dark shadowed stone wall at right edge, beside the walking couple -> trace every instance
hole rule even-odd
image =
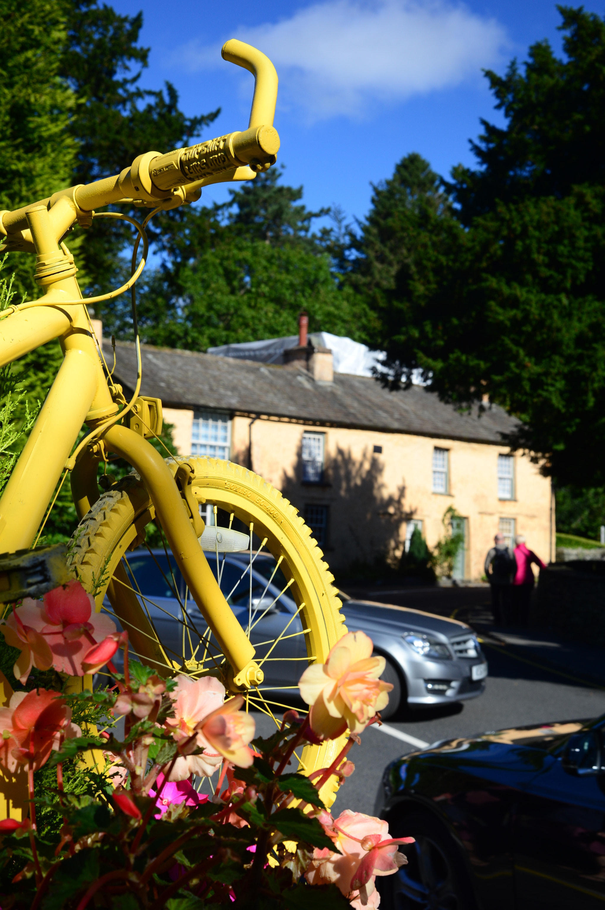
[[[605,561],[576,560],[542,569],[531,625],[605,646]]]

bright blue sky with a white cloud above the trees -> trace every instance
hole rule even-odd
[[[240,38],[270,56],[280,77],[274,126],[285,179],[303,185],[308,207],[336,204],[348,219],[367,213],[371,183],[390,177],[409,152],[442,175],[471,164],[480,117],[501,122],[481,69],[503,73],[543,38],[558,52],[561,45],[550,0],[112,5],[128,15],[143,10],[141,43],[151,55],[142,86],[171,81],[188,115],[222,108],[204,137],[248,125],[253,76],[223,61],[223,42]],[[605,13],[605,3],[584,7]],[[226,197],[224,186],[203,191],[206,204]]]

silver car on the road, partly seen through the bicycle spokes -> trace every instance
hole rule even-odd
[[[294,615],[295,602],[282,592],[286,582],[282,571],[275,571],[273,556],[258,553],[252,571],[249,553],[227,553],[218,564],[214,553],[206,556],[214,575],[220,573],[227,601],[243,626],[250,621],[250,604],[256,616],[262,617],[251,633],[258,658],[266,656],[284,624],[292,618],[289,636],[273,647],[270,659],[263,664],[263,690],[295,686],[305,665],[302,623]],[[169,656],[180,659],[183,645],[186,652],[183,638],[188,634],[183,610],[192,631],[203,635],[207,624],[196,604],[192,600],[185,602],[183,578],[174,561],[169,565],[164,551],[134,551],[128,556],[128,567],[144,595],[164,648]],[[174,584],[181,603],[174,597]],[[389,705],[382,712],[385,720],[406,703],[411,708],[422,708],[461,702],[484,691],[488,665],[470,626],[407,607],[353,601],[339,593],[348,629],[366,632],[374,642],[374,651],[386,658],[382,679],[392,682],[393,690]],[[195,641],[199,641],[197,635],[193,636],[193,648]]]

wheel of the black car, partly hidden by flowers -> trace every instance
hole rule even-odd
[[[392,837],[414,837],[402,852],[408,863],[395,875],[376,879],[382,910],[475,910],[471,884],[447,831],[426,813],[406,815]]]

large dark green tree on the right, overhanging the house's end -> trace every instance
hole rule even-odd
[[[566,60],[541,42],[524,73],[513,64],[504,79],[488,74],[508,123],[484,124],[480,167],[454,170],[441,207],[423,187],[432,217],[414,220],[404,207],[389,243],[412,255],[374,296],[374,339],[388,353],[383,381],[397,386],[422,369],[429,388],[460,407],[501,404],[520,420],[513,448],[533,453],[561,485],[591,486],[605,483],[605,172],[593,154],[605,23],[581,10],[561,15]],[[396,176],[413,197],[414,175]],[[393,210],[395,188],[384,187]],[[377,258],[380,218],[374,202],[353,284]],[[379,248],[389,248],[380,235]]]

